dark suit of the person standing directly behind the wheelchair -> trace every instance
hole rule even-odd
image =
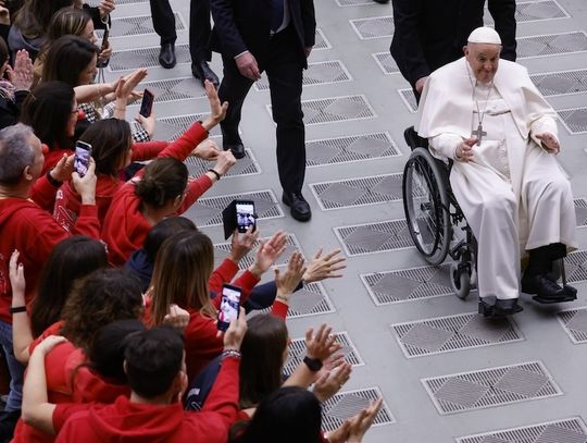
[[[488,0],[496,30],[503,42],[501,57],[515,61],[515,0]],[[473,29],[483,26],[485,0],[392,0],[391,56],[408,82],[463,56]]]

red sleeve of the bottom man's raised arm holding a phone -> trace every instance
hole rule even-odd
[[[226,357],[222,360],[218,377],[202,408],[202,413],[221,415],[227,428],[236,421],[238,414],[239,366],[239,358]]]

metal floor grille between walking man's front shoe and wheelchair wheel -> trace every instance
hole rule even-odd
[[[403,174],[313,183],[312,193],[322,210],[399,201]]]

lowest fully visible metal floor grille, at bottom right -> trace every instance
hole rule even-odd
[[[440,415],[562,395],[541,361],[422,379]]]

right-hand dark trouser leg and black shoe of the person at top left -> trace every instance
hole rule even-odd
[[[191,74],[203,86],[210,81],[218,87],[218,76],[210,69],[210,0],[190,0],[189,2],[189,52],[191,54]]]

